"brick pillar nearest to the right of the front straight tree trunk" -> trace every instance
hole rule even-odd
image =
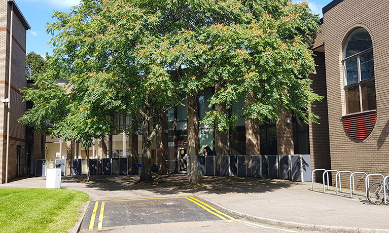
[[[221,86],[219,82],[215,82],[215,93],[217,93],[221,89]],[[221,111],[224,113],[227,113],[226,104],[215,105],[215,109],[217,111]],[[218,129],[215,129],[216,131],[216,156],[217,157],[217,164],[216,164],[216,173],[220,174],[220,158],[219,156],[228,156],[228,134],[227,132],[219,131]],[[202,151],[200,151],[202,152]]]

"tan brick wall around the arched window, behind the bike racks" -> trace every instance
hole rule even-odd
[[[331,168],[389,174],[389,2],[386,0],[344,0],[324,14],[325,61],[328,93],[328,123]],[[341,122],[345,114],[342,47],[348,33],[364,27],[373,42],[377,122],[362,142],[351,140]],[[344,176],[346,178],[346,176]],[[343,181],[345,184],[348,181]],[[358,182],[358,181],[357,181]],[[363,182],[360,183],[363,188]]]

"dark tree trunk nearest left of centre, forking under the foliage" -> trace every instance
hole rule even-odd
[[[143,148],[142,148],[142,170],[140,171],[139,181],[152,181],[151,175],[151,140],[150,134],[150,120],[143,122]]]

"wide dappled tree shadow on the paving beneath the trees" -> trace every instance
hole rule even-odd
[[[85,187],[103,191],[148,190],[161,195],[175,195],[180,192],[202,193],[261,193],[288,188],[301,183],[286,180],[260,179],[252,177],[200,176],[199,185],[188,185],[189,177],[183,174],[156,175],[152,183],[138,183],[139,176],[93,176]],[[85,182],[86,176],[63,177],[62,183]]]

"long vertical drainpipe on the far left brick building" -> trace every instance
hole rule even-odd
[[[12,68],[12,26],[14,22],[14,4],[11,5],[11,28],[10,28],[10,59],[8,68],[8,99],[11,100],[11,68]],[[6,183],[8,183],[8,154],[10,145],[10,109],[11,101],[8,103],[7,112],[7,149],[6,149]]]

